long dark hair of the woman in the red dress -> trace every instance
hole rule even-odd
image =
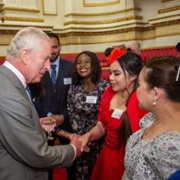
[[[122,49],[124,47],[122,46],[120,48]],[[111,50],[108,49],[106,51],[106,56],[110,55],[112,50],[113,48],[111,48]],[[120,58],[118,58],[117,61],[119,62],[125,76],[126,76],[125,71],[127,71],[129,75],[136,76],[133,91],[131,92],[131,94],[129,94],[129,98],[130,98],[132,93],[137,89],[138,76],[143,66],[142,59],[138,54],[132,52],[131,49],[127,49],[127,53],[121,56]],[[128,101],[129,99],[127,100],[126,106],[128,105]],[[130,126],[130,121],[128,114],[126,112],[126,114],[123,117],[122,124],[119,128],[119,141],[118,141],[119,149],[121,148],[122,144],[126,145],[126,142],[131,134],[132,134],[132,130]]]

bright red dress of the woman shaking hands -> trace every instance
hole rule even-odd
[[[111,117],[113,110],[109,110],[110,101],[115,94],[116,92],[113,92],[109,86],[103,94],[99,107],[98,120],[101,121],[105,127],[106,139],[104,147],[96,161],[91,180],[120,180],[124,173],[125,147],[118,150],[118,131],[124,113],[117,119]],[[139,108],[135,93],[129,100],[128,108],[127,113],[130,119],[131,129],[135,132],[139,129],[140,118],[147,112]],[[131,111],[132,115],[130,115]]]

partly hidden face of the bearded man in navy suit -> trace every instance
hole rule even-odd
[[[61,51],[61,46],[58,44],[58,40],[54,37],[50,37],[50,42],[51,42],[51,58],[50,61],[54,62],[58,58],[60,51]]]

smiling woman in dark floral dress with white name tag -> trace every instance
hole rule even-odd
[[[67,100],[73,133],[82,135],[95,126],[101,97],[108,85],[108,81],[101,79],[101,67],[96,54],[91,51],[79,53],[75,59]],[[103,139],[91,144],[91,152],[83,153],[75,160],[75,179],[90,179],[102,144]]]

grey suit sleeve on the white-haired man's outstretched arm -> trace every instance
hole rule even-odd
[[[5,153],[36,168],[71,165],[75,154],[73,147],[47,145],[33,104],[21,92],[11,89],[0,96],[0,102],[0,141]]]

